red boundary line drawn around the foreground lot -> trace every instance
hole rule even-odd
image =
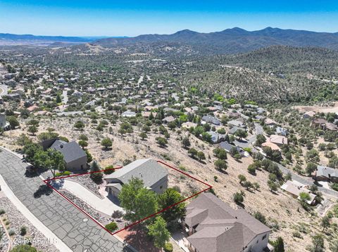
[[[63,195],[61,192],[58,192],[58,190],[57,190],[56,188],[54,188],[51,184],[49,184],[49,181],[51,181],[51,180],[59,180],[59,179],[62,179],[62,178],[71,178],[71,177],[76,177],[76,176],[80,176],[80,175],[87,175],[87,174],[92,174],[92,173],[100,173],[100,172],[103,172],[104,170],[101,170],[101,171],[92,171],[92,172],[89,172],[89,173],[80,173],[80,174],[68,175],[68,176],[63,176],[63,177],[50,178],[50,179],[43,180],[43,181],[44,181],[44,183],[45,183],[48,187],[50,187],[52,190],[54,190],[56,193],[58,193],[61,197],[63,197],[63,198],[64,198],[66,201],[68,201],[70,204],[72,204],[73,206],[75,206],[75,208],[79,209],[82,213],[84,213],[85,215],[87,215],[87,216],[88,216],[91,220],[93,220],[97,225],[101,226],[101,227],[102,227],[104,230],[106,230],[109,234],[114,235],[114,234],[118,234],[118,232],[121,232],[121,231],[123,231],[123,230],[126,230],[126,229],[129,228],[129,227],[132,227],[132,226],[134,226],[134,225],[137,225],[137,224],[139,224],[139,223],[142,223],[142,221],[147,220],[147,219],[153,217],[154,215],[157,215],[158,213],[162,213],[162,212],[168,210],[169,208],[172,208],[173,206],[176,206],[176,205],[178,205],[178,204],[180,204],[180,203],[182,203],[182,202],[184,202],[184,201],[187,201],[188,199],[191,199],[191,198],[197,196],[198,194],[201,194],[202,192],[206,192],[207,190],[210,190],[210,189],[212,188],[211,185],[208,185],[207,183],[204,183],[203,181],[201,181],[201,180],[199,180],[199,179],[197,179],[197,178],[194,178],[192,175],[189,175],[188,173],[184,173],[183,171],[180,171],[179,169],[177,169],[177,168],[175,168],[175,167],[173,167],[173,166],[170,166],[169,164],[165,164],[165,163],[164,163],[163,161],[161,161],[161,160],[158,160],[157,162],[160,163],[160,164],[163,164],[163,165],[165,165],[165,166],[168,166],[169,168],[172,168],[173,170],[178,171],[179,173],[182,173],[182,174],[188,176],[189,178],[192,178],[193,180],[196,180],[196,181],[199,182],[199,183],[202,183],[202,184],[208,186],[208,188],[206,188],[206,189],[204,189],[204,190],[201,190],[200,192],[197,192],[197,193],[193,194],[192,196],[187,197],[186,199],[182,199],[181,201],[178,201],[177,203],[175,203],[175,204],[173,204],[173,205],[171,205],[171,206],[168,206],[168,207],[162,209],[161,211],[158,211],[157,213],[153,213],[152,215],[149,215],[148,217],[143,218],[142,220],[138,220],[136,223],[132,223],[132,224],[130,224],[130,225],[127,225],[127,227],[124,227],[123,229],[118,230],[118,231],[116,231],[116,232],[110,232],[109,230],[107,230],[106,227],[104,227],[104,225],[102,225],[102,224],[99,223],[97,220],[95,220],[94,218],[92,218],[92,216],[89,215],[89,213],[83,211],[82,208],[80,208],[79,206],[77,206],[77,204],[75,204],[73,201],[71,201],[70,199],[68,199],[67,197],[65,197],[65,195]],[[115,171],[116,169],[120,169],[120,168],[123,168],[123,166],[119,166],[119,167],[116,167],[116,168],[111,168],[111,170],[114,170],[114,171]]]

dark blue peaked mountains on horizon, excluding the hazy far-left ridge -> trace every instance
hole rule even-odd
[[[146,34],[131,38],[108,38],[94,41],[101,46],[125,46],[154,42],[178,42],[196,46],[199,50],[214,53],[244,53],[268,46],[311,46],[338,50],[338,33],[309,32],[294,29],[267,27],[249,32],[234,27],[222,32],[199,33],[184,29],[174,34]]]

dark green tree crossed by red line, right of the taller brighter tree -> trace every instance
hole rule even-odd
[[[168,188],[163,192],[163,194],[158,195],[158,208],[164,209],[169,206],[173,206],[184,199],[180,192],[173,188]],[[161,216],[167,223],[172,223],[176,220],[180,220],[185,216],[185,204],[181,202],[173,207],[168,208],[167,210],[161,213]]]

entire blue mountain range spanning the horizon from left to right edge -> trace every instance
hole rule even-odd
[[[322,47],[338,51],[338,32],[310,32],[267,27],[246,31],[238,27],[200,33],[184,29],[174,34],[144,34],[137,37],[62,37],[1,34],[0,45],[69,46],[91,43],[104,47],[177,43],[208,53],[244,53],[268,46]]]

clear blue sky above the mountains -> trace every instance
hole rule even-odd
[[[232,27],[338,32],[338,0],[0,0],[0,33],[134,37]]]

